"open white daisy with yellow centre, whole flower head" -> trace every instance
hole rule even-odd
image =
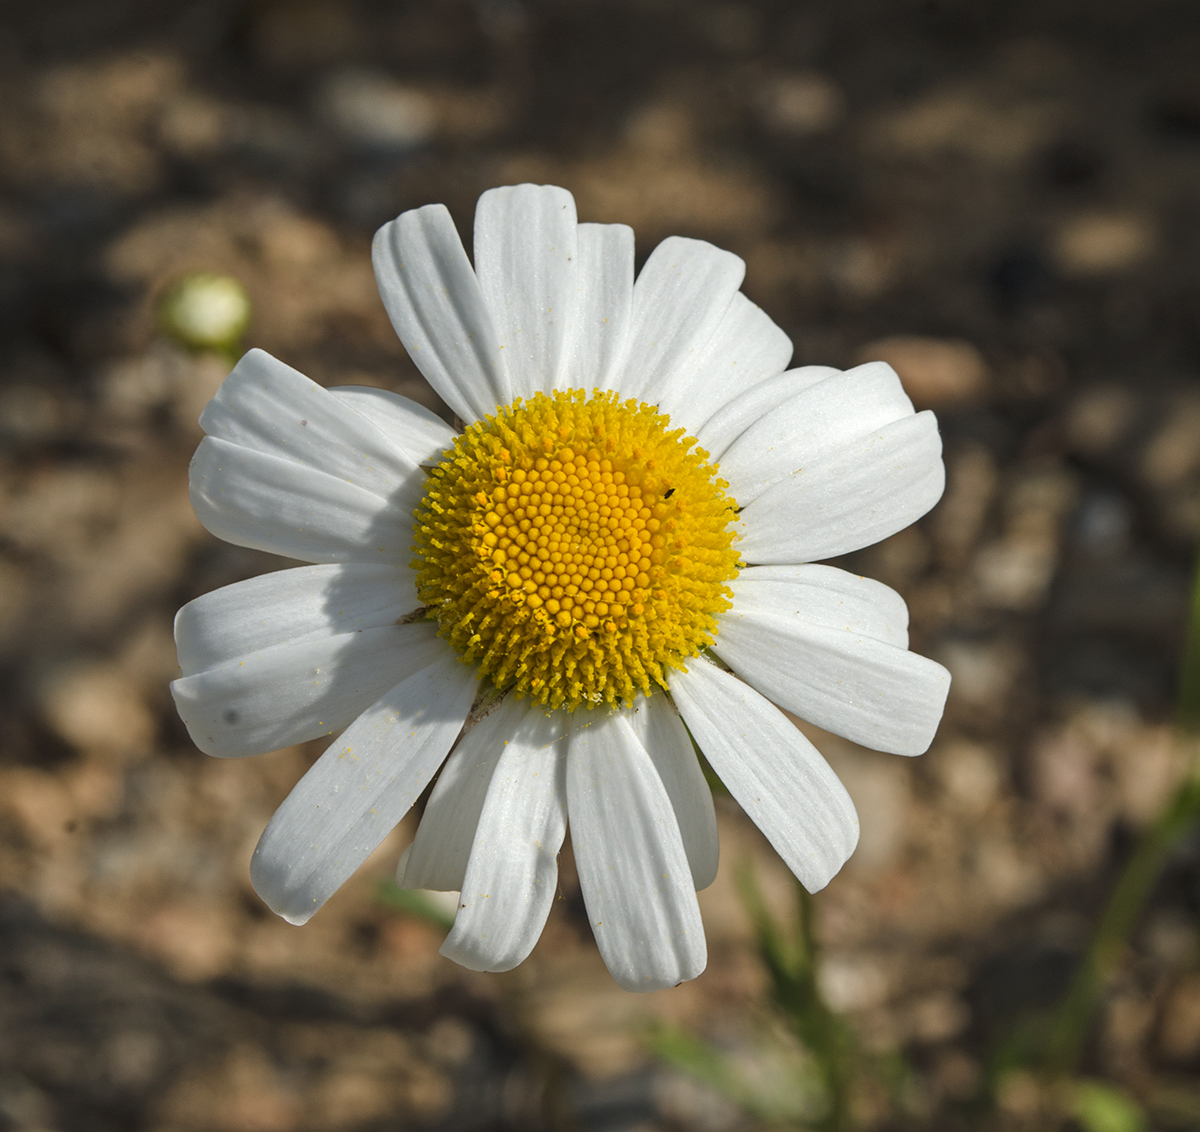
[[[908,651],[904,600],[816,563],[937,502],[936,420],[881,363],[788,370],[730,252],[671,238],[635,281],[632,230],[578,223],[563,188],[484,193],[474,268],[442,205],[385,224],[373,258],[462,431],[256,349],[191,466],[210,532],[312,563],[175,621],[202,750],[337,736],[254,887],[304,923],[436,779],[397,881],[461,892],[444,956],[529,954],[570,825],[616,980],[694,978],[718,862],[696,748],[816,891],[858,819],[780,708],[877,750],[932,739],[949,676]]]

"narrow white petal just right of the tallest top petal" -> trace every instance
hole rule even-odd
[[[580,224],[578,298],[570,364],[560,389],[612,389],[629,346],[634,312],[634,229]]]

